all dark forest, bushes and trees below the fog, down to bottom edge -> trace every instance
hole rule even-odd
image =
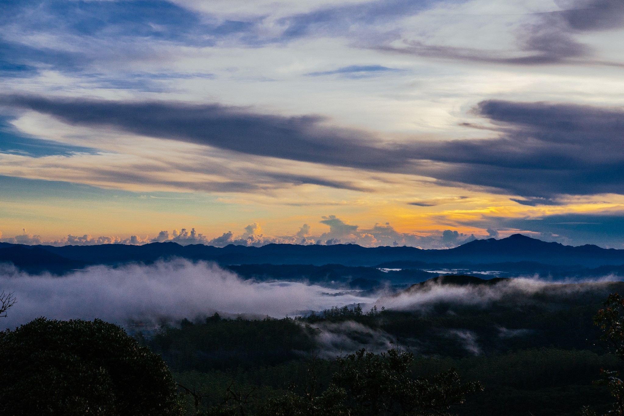
[[[623,415],[624,299],[601,302],[621,285],[417,311],[214,314],[136,340],[39,318],[0,332],[0,414]],[[380,337],[394,347],[379,352]]]

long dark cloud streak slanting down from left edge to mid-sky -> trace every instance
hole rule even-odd
[[[324,127],[319,116],[263,115],[239,107],[172,102],[113,102],[4,96],[0,102],[49,114],[72,125],[109,127],[151,137],[267,157],[391,170],[400,152],[366,145],[366,132]]]

